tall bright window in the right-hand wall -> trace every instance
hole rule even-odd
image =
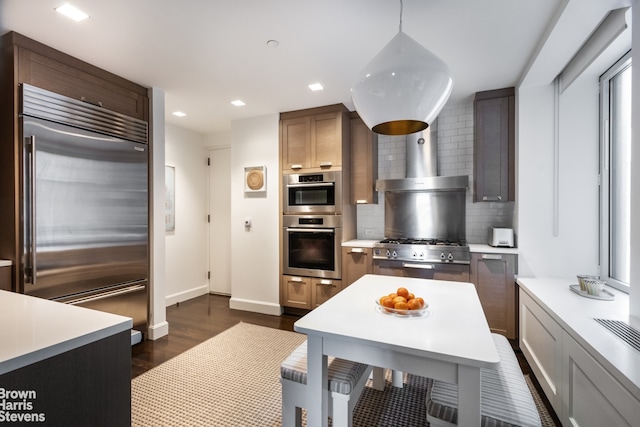
[[[601,276],[625,292],[630,281],[631,52],[600,77]]]

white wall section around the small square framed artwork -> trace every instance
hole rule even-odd
[[[279,315],[279,115],[236,120],[231,133],[230,307]],[[261,165],[266,193],[245,194],[244,168]]]

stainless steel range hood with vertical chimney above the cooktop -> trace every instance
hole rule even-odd
[[[435,128],[435,126],[433,126]],[[462,190],[469,185],[469,177],[437,176],[437,129],[407,135],[406,177],[376,181],[377,191],[448,191]]]

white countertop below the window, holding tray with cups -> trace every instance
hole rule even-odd
[[[603,301],[572,292],[569,285],[577,284],[577,279],[519,277],[517,282],[572,338],[640,399],[640,352],[593,320],[621,320],[640,330],[640,319],[629,316],[627,294],[607,286],[615,299]]]

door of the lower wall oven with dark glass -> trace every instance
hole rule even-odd
[[[284,228],[284,274],[341,278],[342,228]]]

